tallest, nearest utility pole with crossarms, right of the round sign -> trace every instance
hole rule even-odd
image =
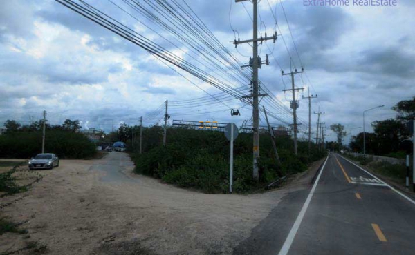
[[[271,37],[262,37],[258,39],[258,0],[235,0],[236,3],[242,1],[251,1],[253,5],[253,37],[250,40],[238,41],[235,39],[234,45],[235,48],[240,43],[252,43],[253,53],[252,59],[247,66],[252,68],[252,95],[246,97],[252,97],[252,119],[253,119],[253,134],[254,134],[254,144],[253,144],[253,178],[255,180],[259,180],[259,172],[258,172],[258,159],[259,159],[259,101],[258,96],[264,96],[259,94],[259,86],[258,86],[258,68],[261,68],[261,58],[258,56],[258,41],[261,43],[267,40],[277,40],[277,32],[273,34]],[[268,65],[268,56],[266,60],[266,64]]]

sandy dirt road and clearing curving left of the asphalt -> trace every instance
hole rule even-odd
[[[30,191],[1,198],[0,216],[28,234],[0,236],[1,252],[28,240],[48,254],[232,254],[295,185],[265,194],[201,194],[132,174],[127,154],[60,162]],[[297,185],[308,185],[308,181]],[[18,254],[27,254],[22,250]]]

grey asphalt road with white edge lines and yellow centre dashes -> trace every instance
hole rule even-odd
[[[415,254],[415,201],[331,154],[234,254]]]

